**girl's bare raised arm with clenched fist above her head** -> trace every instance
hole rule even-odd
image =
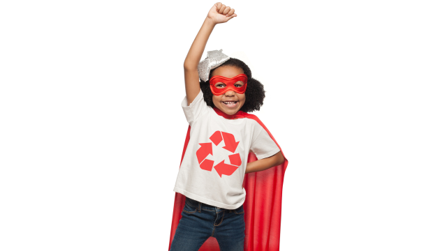
[[[233,8],[225,6],[222,3],[215,3],[210,12],[208,12],[205,22],[203,22],[202,27],[198,31],[196,39],[194,39],[183,64],[184,84],[188,105],[193,102],[194,98],[200,92],[200,80],[198,78],[197,67],[214,26],[227,22],[236,16]]]

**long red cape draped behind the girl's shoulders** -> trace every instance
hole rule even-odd
[[[264,126],[261,120],[254,114],[239,111],[234,115],[228,115],[214,107],[214,111],[226,119],[247,118],[253,119],[261,125],[268,135],[272,137],[274,143],[279,144]],[[189,132],[191,126],[188,127],[186,139],[183,146],[182,160],[189,142]],[[281,150],[282,155],[284,152]],[[284,155],[286,159],[286,156]],[[258,160],[254,153],[249,153],[248,162]],[[288,165],[286,159],[279,166],[271,167],[261,172],[252,172],[244,176],[244,189],[247,192],[244,201],[244,220],[245,220],[245,243],[244,251],[279,251],[279,235],[281,231],[281,199],[282,184],[284,181],[284,173]],[[173,223],[170,229],[169,248],[173,242],[175,230],[182,218],[182,210],[185,203],[185,196],[175,192]],[[210,237],[203,243],[199,251],[219,251],[219,243],[216,238]]]

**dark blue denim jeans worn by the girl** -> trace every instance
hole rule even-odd
[[[210,236],[217,239],[221,251],[243,251],[244,206],[230,210],[186,197],[169,251],[197,251]]]

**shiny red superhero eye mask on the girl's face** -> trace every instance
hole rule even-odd
[[[244,93],[245,90],[247,89],[247,80],[248,80],[247,75],[243,73],[232,78],[214,76],[210,79],[211,92],[215,96],[221,96],[223,93],[226,93],[227,91],[230,90],[233,90],[237,93]],[[242,81],[242,83],[237,83],[239,81]],[[225,87],[219,86],[221,84],[223,84]],[[217,86],[219,86],[220,88]]]

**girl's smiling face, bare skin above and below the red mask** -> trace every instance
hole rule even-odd
[[[240,75],[242,73],[244,73],[244,70],[242,70],[241,68],[237,68],[234,66],[219,66],[218,68],[214,69],[210,78],[217,75],[231,78]],[[239,111],[242,105],[244,105],[245,93],[241,94],[236,93],[233,90],[230,90],[227,91],[226,93],[223,93],[221,96],[213,95],[212,102],[214,103],[214,106],[219,108],[222,112],[225,112],[228,115],[233,115],[237,111]],[[227,104],[225,102],[227,102]],[[232,102],[236,103],[234,104]]]

